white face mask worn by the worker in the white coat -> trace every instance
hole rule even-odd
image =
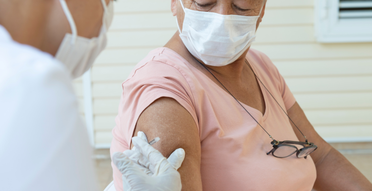
[[[106,5],[105,0],[101,0],[104,13],[102,28],[98,37],[88,39],[77,36],[76,25],[71,13],[64,0],[60,0],[64,14],[70,24],[72,35],[66,34],[57,51],[56,58],[66,65],[71,72],[72,78],[77,78],[84,74],[92,66],[98,54],[106,47],[106,33],[109,29],[114,16],[113,2]]]

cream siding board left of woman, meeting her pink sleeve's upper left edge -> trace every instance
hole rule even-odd
[[[115,97],[123,93],[122,83],[94,83],[92,87],[93,97]]]

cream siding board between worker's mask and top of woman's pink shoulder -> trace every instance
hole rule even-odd
[[[93,68],[95,65],[102,64],[136,64],[155,48],[157,47],[105,49],[95,60]]]

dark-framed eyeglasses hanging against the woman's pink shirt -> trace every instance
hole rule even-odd
[[[285,158],[288,156],[291,156],[292,154],[296,153],[296,156],[298,158],[303,158],[305,159],[308,157],[308,155],[316,150],[318,146],[314,145],[314,143],[309,143],[309,142],[298,142],[298,141],[273,141],[271,142],[273,145],[273,149],[271,149],[268,153],[266,154],[272,154],[275,157],[278,158]],[[292,144],[299,144],[304,146],[303,148],[298,149],[295,145]]]

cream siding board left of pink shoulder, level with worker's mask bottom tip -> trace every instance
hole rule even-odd
[[[96,66],[92,68],[92,81],[124,82],[135,66]]]

